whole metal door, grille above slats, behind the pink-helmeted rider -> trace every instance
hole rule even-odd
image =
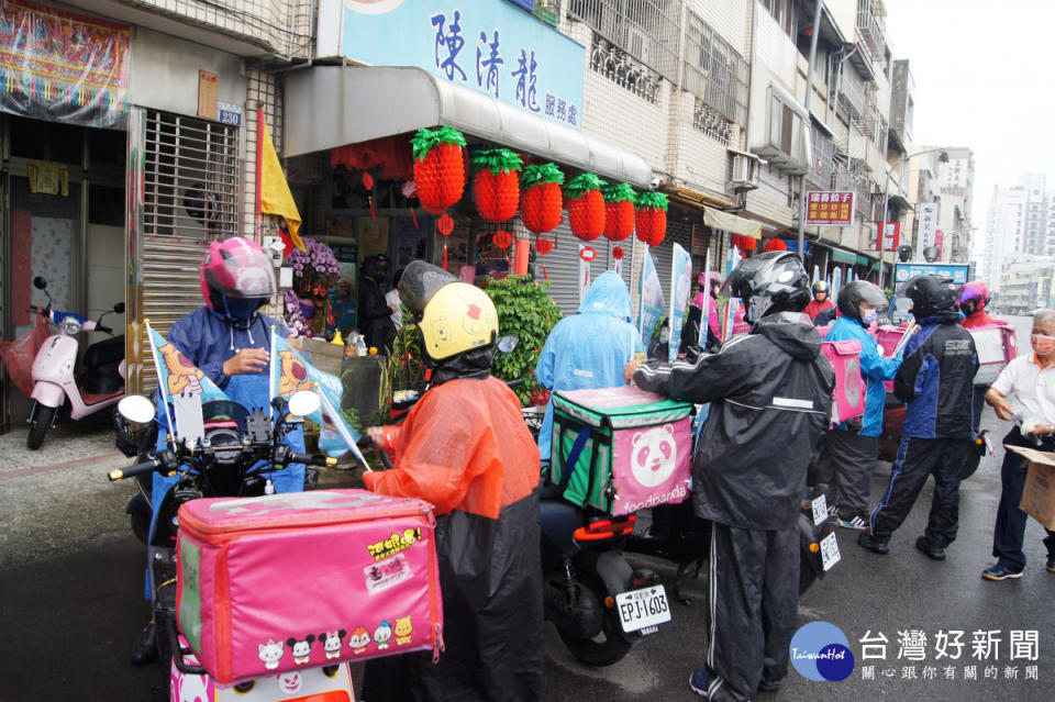
[[[237,127],[136,109],[129,171],[131,261],[127,299],[129,392],[147,392],[156,375],[143,322],[164,334],[202,305],[198,269],[209,243],[238,234]]]

